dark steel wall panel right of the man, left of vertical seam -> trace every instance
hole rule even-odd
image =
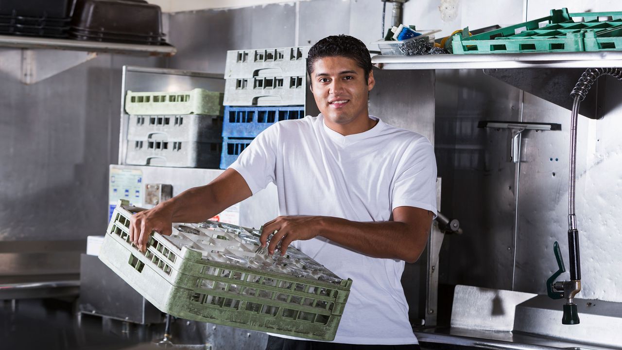
[[[443,213],[463,235],[446,237],[444,283],[511,290],[516,192],[509,131],[478,128],[483,120],[520,120],[519,90],[479,70],[436,74],[435,153],[443,179]]]

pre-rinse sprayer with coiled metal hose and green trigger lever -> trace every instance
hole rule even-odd
[[[577,229],[577,215],[575,214],[575,194],[577,182],[577,119],[579,105],[585,99],[593,83],[603,75],[622,80],[622,69],[619,68],[590,68],[579,78],[577,85],[570,92],[573,98],[572,116],[570,120],[570,173],[568,177],[568,248],[570,257],[570,281],[555,281],[566,271],[559,244],[555,242],[553,250],[559,270],[547,280],[547,293],[552,299],[565,298],[563,324],[578,324],[579,316],[574,297],[581,290],[581,263],[579,259],[579,231]]]

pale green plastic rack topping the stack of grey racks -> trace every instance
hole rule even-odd
[[[202,88],[182,92],[132,92],[125,98],[125,111],[130,115],[223,115],[221,92]]]

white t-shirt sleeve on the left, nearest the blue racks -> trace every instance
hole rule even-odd
[[[229,166],[244,177],[253,194],[274,182],[278,136],[277,124],[271,125],[259,133]]]

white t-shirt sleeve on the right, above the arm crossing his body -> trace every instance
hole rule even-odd
[[[430,210],[436,217],[436,159],[434,146],[424,140],[402,156],[392,191],[392,207]]]

